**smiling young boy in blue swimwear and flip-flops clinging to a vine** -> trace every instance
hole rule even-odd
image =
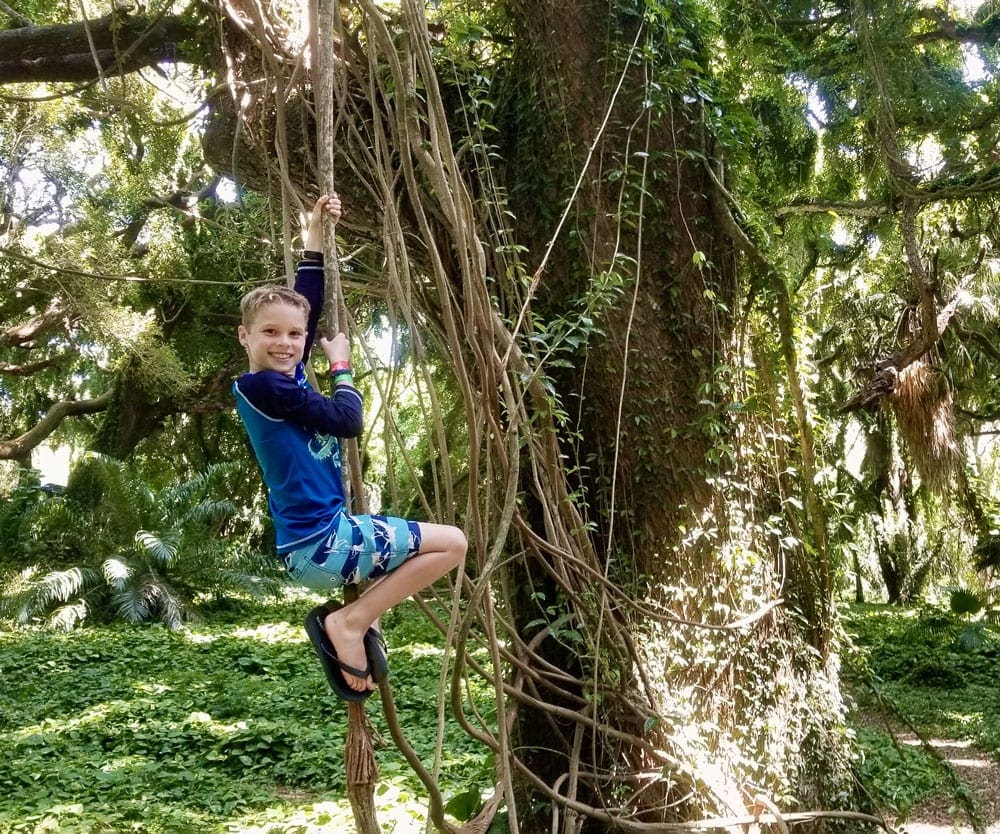
[[[461,565],[467,543],[450,525],[347,512],[337,438],[357,437],[362,429],[347,337],[319,340],[330,363],[331,397],[312,389],[304,365],[323,307],[324,214],[340,219],[336,194],[321,196],[310,214],[295,289],[259,287],[240,302],[239,340],[250,371],[233,383],[233,392],[263,470],[288,573],[324,592],[375,580],[350,605],[327,603],[306,617],[330,687],[345,700],[361,701],[388,674],[379,617]]]

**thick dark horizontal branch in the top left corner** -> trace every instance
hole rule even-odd
[[[177,61],[198,25],[184,17],[107,15],[58,26],[0,31],[0,85],[93,81]]]

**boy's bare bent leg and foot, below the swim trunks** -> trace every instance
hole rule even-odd
[[[323,627],[333,643],[337,657],[349,666],[364,669],[365,632],[394,605],[462,564],[468,545],[465,534],[445,524],[420,523],[420,552],[411,556],[392,573],[380,577],[350,605],[327,614]],[[363,692],[374,689],[374,681],[356,678],[344,672],[351,689]]]

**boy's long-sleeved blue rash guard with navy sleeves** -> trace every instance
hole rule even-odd
[[[302,354],[308,359],[323,308],[320,253],[304,254],[295,289],[309,300]],[[243,374],[233,393],[264,474],[278,553],[318,541],[346,510],[338,438],[361,434],[361,394],[337,385],[324,397],[309,384],[303,362],[294,378],[270,370]]]

